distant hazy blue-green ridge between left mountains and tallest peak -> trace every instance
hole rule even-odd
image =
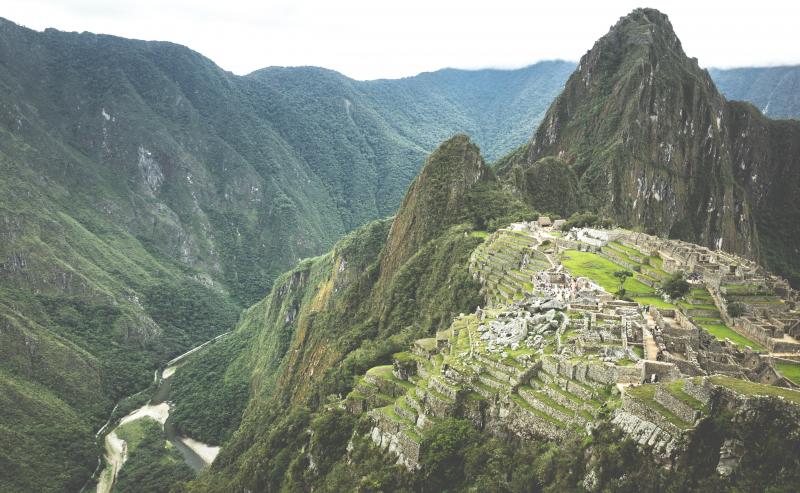
[[[464,132],[494,161],[530,138],[574,67],[547,61],[517,70],[444,69],[359,87],[392,126],[427,152]]]

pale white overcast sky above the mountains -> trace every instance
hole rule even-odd
[[[0,16],[42,30],[166,40],[246,74],[317,65],[357,79],[443,67],[578,60],[637,6],[669,15],[705,67],[800,63],[800,1],[3,0]]]

